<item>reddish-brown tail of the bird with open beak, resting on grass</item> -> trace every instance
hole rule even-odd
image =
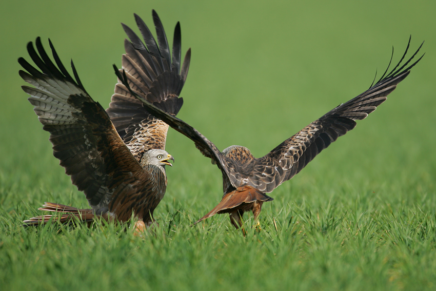
[[[25,220],[24,225],[31,226],[31,225],[38,225],[38,224],[46,224],[52,217],[58,217],[58,220],[61,223],[72,222],[74,218],[76,218],[76,221],[82,221],[82,222],[90,222],[94,219],[94,214],[92,213],[92,209],[79,209],[79,208],[75,208],[63,204],[51,203],[51,202],[45,202],[43,207],[38,208],[38,210],[61,212],[63,214],[42,215],[42,216],[32,217],[29,218],[28,220]]]

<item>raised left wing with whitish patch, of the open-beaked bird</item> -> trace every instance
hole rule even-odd
[[[29,101],[35,106],[44,130],[50,132],[53,154],[71,176],[72,183],[85,192],[94,210],[109,210],[118,219],[127,220],[131,216],[129,201],[137,201],[138,196],[153,196],[153,177],[143,170],[123,143],[103,107],[88,95],[73,63],[76,81],[61,63],[51,42],[50,47],[58,68],[39,37],[36,38],[39,55],[33,44],[28,44],[30,57],[41,71],[20,57],[18,62],[28,73],[20,70],[19,75],[35,87],[22,88],[30,95]],[[124,206],[110,204],[121,198],[124,198]],[[141,206],[145,200],[137,204]],[[148,209],[144,215],[148,215]]]

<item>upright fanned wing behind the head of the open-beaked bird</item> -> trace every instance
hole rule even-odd
[[[129,86],[137,95],[163,111],[176,115],[183,104],[179,95],[185,84],[191,57],[189,49],[181,70],[180,23],[175,26],[171,59],[164,27],[157,13],[153,10],[157,43],[144,21],[134,15],[145,45],[132,29],[122,24],[130,38],[130,42],[127,39],[124,42],[126,53],[122,58],[122,70],[126,72]],[[139,153],[149,149],[165,149],[168,125],[150,115],[142,102],[134,98],[119,80],[106,112],[137,159],[141,158]]]

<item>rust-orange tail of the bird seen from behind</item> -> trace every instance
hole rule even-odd
[[[271,200],[273,200],[271,197],[251,186],[242,186],[229,193],[226,193],[221,202],[218,203],[215,208],[213,208],[207,215],[195,223],[199,223],[200,221],[214,216],[215,214],[232,213],[235,211],[239,211],[241,214],[243,214],[245,211],[253,210],[252,208],[255,202],[263,203]],[[257,215],[259,215],[259,213],[257,213]]]

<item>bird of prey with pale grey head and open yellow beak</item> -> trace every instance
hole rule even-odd
[[[123,71],[130,90],[170,115],[183,104],[179,94],[188,74],[190,49],[181,67],[181,29],[174,30],[172,58],[167,37],[153,10],[157,43],[144,21],[135,20],[145,44],[125,24],[130,41],[124,42]],[[73,217],[91,221],[94,217],[115,221],[137,218],[136,228],[143,230],[153,222],[153,211],[162,200],[167,186],[165,166],[174,158],[165,151],[168,125],[153,117],[120,82],[115,85],[109,108],[92,100],[71,62],[75,77],[68,73],[49,40],[55,64],[36,38],[27,50],[34,68],[22,57],[19,64],[27,72],[19,75],[34,86],[22,86],[30,95],[44,130],[50,132],[53,154],[78,190],[83,191],[91,209],[78,209],[47,203],[41,210],[62,212],[61,222]],[[26,225],[47,222],[52,216],[39,216]]]

